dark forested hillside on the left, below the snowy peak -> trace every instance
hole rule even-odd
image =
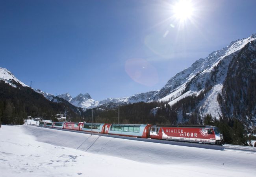
[[[42,94],[30,87],[23,87],[15,80],[0,80],[0,122],[2,124],[24,124],[27,116],[43,117],[55,120],[56,114],[62,113],[69,120],[78,119],[79,111],[68,101],[56,98],[56,101],[47,100]]]

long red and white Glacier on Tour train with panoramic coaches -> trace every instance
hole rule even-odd
[[[85,122],[39,122],[39,126],[108,135],[224,145],[223,135],[211,125],[91,124]]]

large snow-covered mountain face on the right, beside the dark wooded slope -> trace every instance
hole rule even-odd
[[[150,101],[168,101],[170,105],[174,105],[187,96],[198,96],[208,89],[194,109],[198,109],[201,115],[208,113],[217,118],[222,116],[217,95],[221,94],[223,89],[228,66],[241,49],[255,39],[256,34],[253,34],[248,38],[231,42],[229,46],[210,53],[204,59],[197,60],[191,67],[172,77],[150,98]]]

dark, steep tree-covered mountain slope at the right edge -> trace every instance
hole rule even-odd
[[[249,126],[256,123],[256,41],[231,61],[218,101],[224,117],[239,118]]]

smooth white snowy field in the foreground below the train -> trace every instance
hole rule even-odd
[[[30,125],[0,128],[1,177],[255,176],[256,153],[176,146]]]

